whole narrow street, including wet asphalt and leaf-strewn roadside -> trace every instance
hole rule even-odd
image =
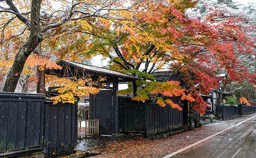
[[[239,125],[234,126],[236,124]],[[229,127],[231,128],[226,130]],[[221,132],[222,130],[225,131]],[[212,137],[202,141],[209,136]],[[197,142],[200,143],[176,153]],[[101,153],[94,158],[255,158],[256,113],[207,124],[202,128],[159,140],[108,142],[104,148],[95,149],[94,152]]]

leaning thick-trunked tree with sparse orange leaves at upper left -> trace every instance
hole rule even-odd
[[[7,70],[5,63],[11,62],[3,88],[6,92],[14,92],[26,60],[42,41],[54,34],[55,28],[69,28],[74,21],[95,20],[99,17],[106,20],[122,19],[116,11],[129,9],[124,7],[126,2],[122,0],[0,2],[1,66],[5,68],[4,71]],[[133,6],[138,2],[131,1],[130,4]],[[59,32],[58,35],[62,34]]]

